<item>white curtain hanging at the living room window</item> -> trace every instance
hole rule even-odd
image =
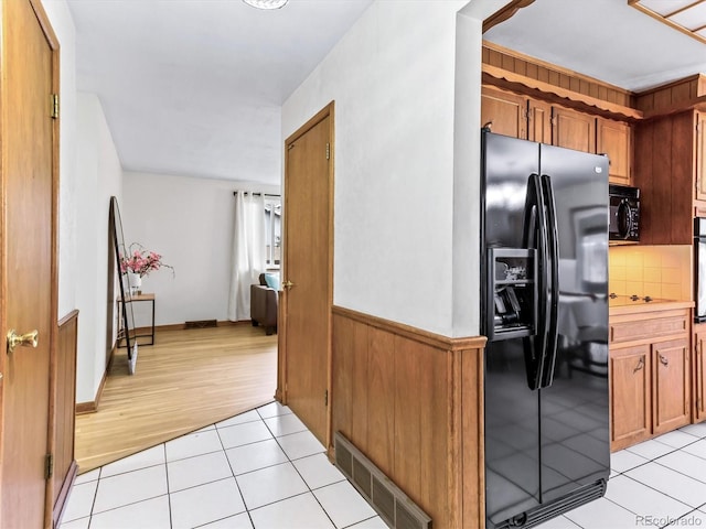
[[[250,284],[265,271],[265,196],[242,191],[235,194],[235,226],[228,320],[250,317]]]

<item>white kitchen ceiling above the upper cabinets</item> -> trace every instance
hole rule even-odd
[[[706,73],[706,44],[628,0],[536,0],[483,36],[634,91]]]

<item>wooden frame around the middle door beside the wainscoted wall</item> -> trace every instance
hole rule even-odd
[[[289,180],[289,166],[287,163],[287,152],[290,149],[290,145],[306,134],[309,130],[311,130],[315,125],[321,122],[327,117],[329,119],[329,241],[327,245],[327,260],[328,260],[328,271],[327,271],[327,282],[329,285],[328,289],[328,315],[327,315],[327,391],[329,395],[329,402],[327,407],[327,449],[331,444],[331,377],[332,377],[332,339],[333,339],[333,217],[334,217],[334,183],[335,183],[335,156],[334,156],[334,144],[335,144],[335,101],[329,102],[325,107],[319,110],[315,115],[313,115],[304,125],[299,127],[292,134],[290,134],[285,140],[285,150],[282,152],[282,158],[285,160],[285,180],[282,185],[282,202],[284,202],[284,217],[285,222],[282,224],[282,269],[281,269],[281,278],[285,280],[288,278],[287,270],[287,231],[289,227],[288,220],[288,202],[289,197],[287,194],[287,182]],[[284,281],[282,281],[284,282]],[[279,292],[279,314],[278,314],[278,352],[277,352],[277,390],[275,393],[275,398],[279,400],[282,404],[287,404],[287,289],[282,289]]]

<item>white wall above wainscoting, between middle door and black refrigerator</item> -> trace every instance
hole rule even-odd
[[[467,3],[376,1],[282,107],[285,139],[335,100],[334,303],[447,336],[479,331],[477,19],[505,2]]]

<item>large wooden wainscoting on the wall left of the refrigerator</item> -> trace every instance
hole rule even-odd
[[[485,523],[484,345],[333,307],[332,433],[341,431],[435,529]]]

